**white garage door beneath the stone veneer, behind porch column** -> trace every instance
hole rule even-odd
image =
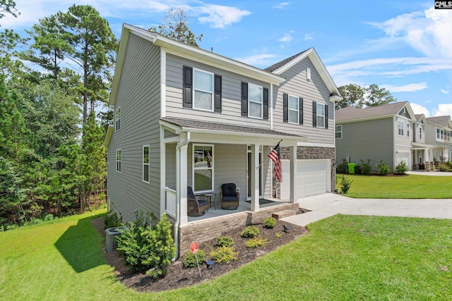
[[[289,199],[290,160],[281,160],[281,163],[283,166],[281,199]],[[297,160],[296,198],[321,195],[328,192],[329,172],[329,160]]]

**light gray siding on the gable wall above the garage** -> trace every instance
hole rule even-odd
[[[311,68],[311,80],[307,80],[307,68]],[[330,102],[330,91],[321,79],[309,58],[282,74],[287,80],[273,88],[273,129],[311,138],[309,142],[334,143],[334,103]],[[303,98],[303,124],[283,122],[283,94]],[[312,126],[312,102],[328,105],[328,129]]]

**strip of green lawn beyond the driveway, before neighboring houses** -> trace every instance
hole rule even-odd
[[[353,183],[347,197],[371,199],[452,199],[452,177],[344,175]],[[340,177],[340,175],[338,175]],[[339,189],[339,178],[336,187]]]

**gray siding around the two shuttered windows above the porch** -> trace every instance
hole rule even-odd
[[[182,107],[182,71],[184,66],[205,70],[222,77],[222,112],[214,113]],[[270,120],[249,118],[242,116],[242,87],[241,82],[251,82],[266,87],[266,82],[246,78],[212,66],[190,61],[188,59],[167,54],[167,84],[166,84],[166,116],[170,118],[187,118],[212,123],[229,123],[233,125],[254,126],[256,128],[270,128]]]

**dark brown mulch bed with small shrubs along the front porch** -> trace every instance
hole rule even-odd
[[[100,217],[91,221],[96,230],[105,237],[104,219]],[[199,277],[198,268],[185,269],[183,266],[182,258],[177,259],[169,266],[169,273],[165,278],[155,280],[145,273],[133,273],[130,271],[129,266],[126,264],[122,257],[119,257],[117,250],[113,252],[105,252],[105,260],[110,266],[114,266],[114,274],[117,278],[126,285],[128,288],[137,290],[139,292],[157,292],[161,290],[174,290],[176,288],[183,288],[196,283],[202,283],[209,279],[221,276],[222,274],[232,271],[244,266],[249,262],[253,262],[263,254],[267,254],[278,247],[295,240],[302,235],[306,235],[308,230],[306,227],[294,225],[284,221],[278,221],[277,225],[273,229],[268,229],[263,224],[254,225],[257,226],[261,232],[261,238],[267,238],[270,243],[266,247],[256,247],[249,249],[246,247],[246,241],[248,238],[242,238],[240,233],[243,228],[237,228],[234,231],[229,231],[224,235],[230,236],[234,239],[235,251],[239,252],[239,260],[233,261],[230,264],[215,264],[211,269],[208,269],[206,264],[200,263],[201,275]],[[290,226],[291,229],[284,231],[284,226]],[[277,233],[280,233],[280,237],[277,238]],[[216,248],[216,240],[210,240],[209,242],[199,245],[199,248],[206,252],[206,257],[210,251],[210,247]],[[209,247],[210,246],[210,247]]]

